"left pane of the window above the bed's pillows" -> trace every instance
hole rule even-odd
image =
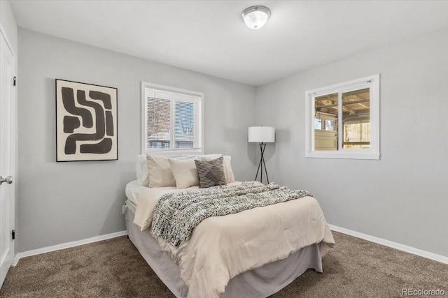
[[[147,148],[162,149],[170,146],[171,108],[170,100],[151,98],[147,100],[148,130]]]

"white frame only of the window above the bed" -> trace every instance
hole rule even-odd
[[[200,97],[199,110],[195,111],[195,124],[199,126],[195,128],[195,143],[199,142],[200,147],[192,149],[176,149],[176,148],[148,149],[146,147],[147,146],[146,133],[148,126],[148,112],[146,110],[147,107],[146,88],[156,89],[160,91],[170,91],[174,93]],[[172,117],[171,127],[172,127],[172,133],[174,134],[175,131],[174,117]],[[172,144],[174,145],[174,140],[172,140]],[[141,82],[141,154],[180,156],[181,154],[202,154],[203,152],[204,152],[204,93],[142,81]]]

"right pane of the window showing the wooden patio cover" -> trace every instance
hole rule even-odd
[[[370,148],[370,89],[342,94],[342,147]]]

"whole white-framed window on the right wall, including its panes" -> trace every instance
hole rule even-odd
[[[379,75],[305,93],[305,156],[379,159]]]

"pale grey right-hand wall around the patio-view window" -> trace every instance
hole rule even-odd
[[[269,178],[314,193],[328,223],[448,256],[447,53],[442,29],[258,87]],[[304,92],[376,73],[381,160],[304,158]]]

